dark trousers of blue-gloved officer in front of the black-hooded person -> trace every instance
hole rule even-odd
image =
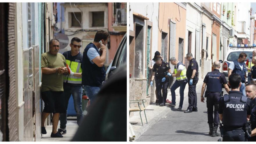
[[[161,81],[162,79],[157,79],[157,97],[158,97],[158,103],[166,103],[166,98],[167,98],[167,88],[169,84],[169,78],[166,79],[165,82]],[[163,90],[162,90],[163,89]],[[163,91],[163,94],[162,94]]]

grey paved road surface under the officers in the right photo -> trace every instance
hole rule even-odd
[[[206,98],[205,103],[200,102],[199,99],[201,88],[202,86],[197,86],[198,112],[184,113],[169,107],[170,111],[166,116],[148,129],[137,141],[217,141],[221,138],[208,135]],[[188,97],[184,98],[183,109],[186,110],[187,107]]]

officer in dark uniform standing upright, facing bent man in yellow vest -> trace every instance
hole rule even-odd
[[[191,113],[197,111],[197,95],[196,95],[196,84],[198,82],[198,63],[191,53],[186,54],[186,58],[189,61],[189,66],[186,72],[189,84],[189,106],[184,113]]]

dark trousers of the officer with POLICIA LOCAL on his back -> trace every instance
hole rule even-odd
[[[247,141],[247,138],[243,129],[235,129],[232,131],[224,130],[222,141]]]

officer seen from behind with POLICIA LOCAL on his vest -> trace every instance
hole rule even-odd
[[[231,91],[224,95],[219,102],[219,118],[223,124],[222,141],[247,141],[247,120],[250,118],[250,98],[239,92],[241,77],[231,74],[228,78]]]

